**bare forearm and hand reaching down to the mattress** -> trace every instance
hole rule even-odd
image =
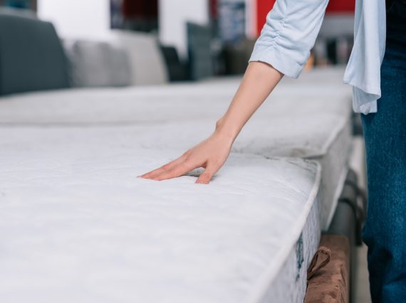
[[[282,77],[283,74],[271,65],[261,62],[249,63],[236,95],[227,112],[217,122],[212,136],[189,149],[179,158],[140,177],[160,181],[182,176],[187,171],[204,167],[205,170],[196,183],[208,184],[227,160],[231,145],[244,124]]]

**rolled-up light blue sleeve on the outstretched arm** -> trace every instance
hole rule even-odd
[[[314,46],[328,0],[277,0],[249,62],[261,61],[298,78]]]

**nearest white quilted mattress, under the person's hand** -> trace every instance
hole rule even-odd
[[[231,154],[210,186],[157,182],[135,176],[181,150],[93,130],[0,129],[1,302],[303,298],[317,162]]]

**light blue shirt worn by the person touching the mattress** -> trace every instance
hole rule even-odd
[[[328,0],[277,0],[266,16],[249,61],[272,65],[298,78],[323,22]],[[343,81],[353,86],[355,112],[377,111],[380,65],[385,53],[385,0],[357,0],[354,46]]]

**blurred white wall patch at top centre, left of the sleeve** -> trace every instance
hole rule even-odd
[[[52,0],[51,0],[52,1]],[[55,1],[55,0],[53,0]],[[187,56],[186,22],[209,23],[208,0],[159,0],[160,41],[176,46],[179,55]]]

